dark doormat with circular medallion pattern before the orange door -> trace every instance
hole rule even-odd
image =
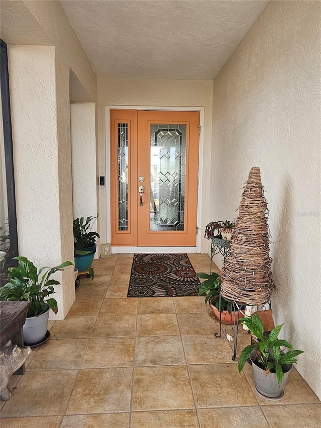
[[[196,296],[199,289],[187,254],[134,254],[127,297]]]

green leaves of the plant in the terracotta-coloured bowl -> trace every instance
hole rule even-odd
[[[218,296],[221,291],[221,276],[216,273],[204,273],[199,272],[197,274],[199,278],[206,279],[206,281],[201,283],[200,291],[198,296],[205,296],[205,305],[208,303],[209,305],[213,305],[219,311],[219,300]],[[228,302],[221,296],[221,312],[228,311],[229,314],[232,312],[232,303]]]

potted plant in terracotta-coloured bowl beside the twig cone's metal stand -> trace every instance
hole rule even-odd
[[[216,318],[221,318],[224,324],[234,324],[234,320],[238,320],[244,315],[240,311],[232,311],[233,304],[225,300],[221,296],[221,316],[220,316],[220,305],[219,305],[219,294],[221,292],[221,276],[216,273],[204,273],[199,272],[197,274],[199,278],[206,279],[202,282],[198,296],[205,294],[205,304],[211,305]],[[242,309],[243,307],[241,307]],[[244,307],[245,309],[245,307]]]

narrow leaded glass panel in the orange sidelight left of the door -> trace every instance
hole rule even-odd
[[[118,123],[118,230],[128,230],[127,123]]]

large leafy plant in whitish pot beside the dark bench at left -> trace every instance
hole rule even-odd
[[[45,266],[38,270],[27,257],[15,259],[18,260],[18,266],[9,268],[9,282],[0,289],[0,300],[30,302],[23,326],[24,341],[27,345],[34,345],[46,336],[49,310],[55,314],[58,312],[56,299],[48,297],[55,293],[53,286],[60,282],[50,277],[58,270],[72,265],[72,262],[65,261],[59,266]]]

